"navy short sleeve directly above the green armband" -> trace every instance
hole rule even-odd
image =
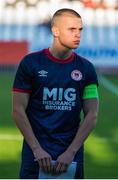
[[[96,84],[98,86],[98,78],[93,64],[89,62],[87,67],[85,86],[88,86],[90,84]]]

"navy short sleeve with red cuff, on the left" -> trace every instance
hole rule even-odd
[[[17,92],[32,92],[32,67],[29,63],[30,59],[25,56],[20,62],[16,71],[15,80],[13,83],[13,91]]]

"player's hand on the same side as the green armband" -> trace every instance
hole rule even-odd
[[[67,150],[63,154],[61,154],[56,160],[54,174],[66,172],[73,159],[74,154],[71,151]]]

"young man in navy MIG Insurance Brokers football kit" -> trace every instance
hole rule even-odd
[[[60,9],[51,25],[52,46],[26,55],[13,85],[13,117],[24,136],[20,178],[38,178],[39,168],[60,174],[75,161],[79,179],[83,143],[96,125],[98,81],[93,65],[72,51],[80,43],[81,16]]]

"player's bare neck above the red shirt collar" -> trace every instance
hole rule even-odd
[[[51,54],[54,57],[59,58],[59,59],[67,59],[72,54],[71,49],[59,48],[59,47],[56,47],[56,46],[50,47],[49,51],[51,52]]]

